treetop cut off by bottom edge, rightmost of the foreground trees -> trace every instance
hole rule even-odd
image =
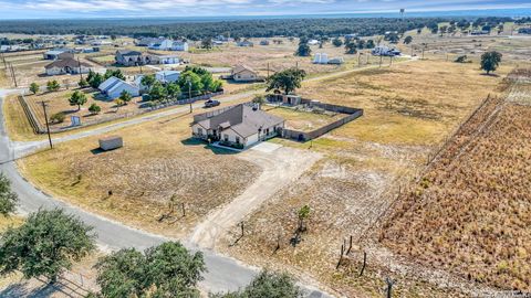
[[[244,289],[211,296],[214,298],[300,298],[302,290],[288,274],[261,272]]]

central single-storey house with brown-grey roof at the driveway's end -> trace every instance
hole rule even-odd
[[[241,149],[273,138],[284,128],[284,119],[248,104],[197,115],[194,120],[195,138]]]

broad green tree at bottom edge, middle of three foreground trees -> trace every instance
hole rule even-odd
[[[178,242],[146,249],[122,249],[101,258],[96,283],[103,297],[198,297],[206,272],[202,253],[189,253]]]

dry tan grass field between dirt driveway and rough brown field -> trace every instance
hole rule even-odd
[[[353,270],[360,268],[365,231],[391,205],[398,185],[417,174],[428,153],[482,99],[501,93],[509,70],[485,76],[477,65],[417,61],[303,84],[299,93],[305,98],[363,108],[364,116],[312,142],[273,140],[325,158],[250,215],[248,233],[237,246],[229,246],[233,240],[228,238],[218,247],[251,264],[311,274],[347,297],[384,295],[386,276],[399,280],[403,297],[461,296],[391,272],[374,258],[366,276]],[[296,211],[303,205],[312,210],[308,231],[293,247]],[[355,257],[351,266],[335,270],[340,247],[350,236]]]

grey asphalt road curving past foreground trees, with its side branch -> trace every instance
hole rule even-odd
[[[3,105],[2,96],[6,91],[0,91],[0,107]],[[233,98],[232,98],[233,99]],[[1,108],[0,108],[1,110]],[[171,114],[181,113],[179,108],[163,111],[162,114],[148,115],[142,118],[135,118],[131,121],[142,123],[153,120],[156,118],[165,117]],[[72,137],[64,137],[58,141],[65,141],[76,138],[82,138],[91,135],[97,135],[105,131],[114,130],[118,127],[125,127],[132,125],[129,121],[112,125],[101,129],[95,129],[86,132],[76,134]],[[19,147],[21,143],[18,145]],[[34,149],[35,143],[31,147]],[[37,145],[39,146],[39,145]],[[20,153],[20,152],[19,152]],[[86,224],[94,227],[97,234],[97,242],[104,249],[118,249],[124,247],[136,247],[138,249],[145,249],[150,246],[160,244],[168,241],[168,238],[149,234],[139,230],[135,230],[125,226],[118,222],[114,222],[102,216],[95,215],[76,206],[61,202],[40,190],[35,189],[31,183],[24,180],[15,163],[12,161],[15,157],[15,150],[13,143],[10,141],[6,127],[3,113],[0,111],[0,171],[3,172],[12,183],[12,189],[18,193],[20,202],[19,209],[22,213],[30,213],[38,211],[39,209],[54,209],[62,207],[66,212],[79,216]],[[184,243],[189,249],[196,251],[197,247]],[[204,275],[205,280],[201,281],[200,287],[204,290],[211,292],[220,292],[228,290],[236,290],[249,284],[258,268],[251,268],[243,265],[236,259],[221,256],[212,251],[202,249],[205,255],[205,262],[208,268],[208,273]],[[310,286],[304,286],[306,290],[306,297],[319,298],[330,297],[320,290],[314,290]]]

